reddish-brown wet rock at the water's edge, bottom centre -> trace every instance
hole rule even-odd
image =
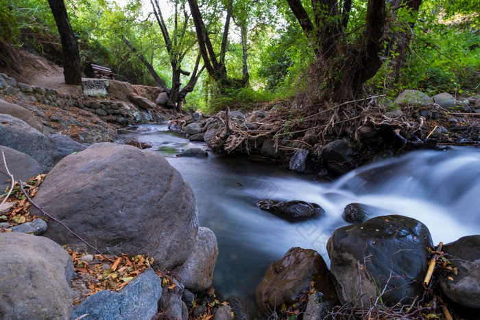
[[[267,269],[255,290],[256,304],[263,311],[278,310],[282,304],[292,304],[300,291],[310,287],[311,281],[326,301],[337,303],[335,287],[322,256],[315,250],[291,248]]]

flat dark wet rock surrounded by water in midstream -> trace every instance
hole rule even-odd
[[[289,221],[304,220],[322,216],[325,210],[316,203],[305,201],[278,201],[272,199],[261,199],[256,205],[271,214]]]

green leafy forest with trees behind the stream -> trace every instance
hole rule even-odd
[[[120,4],[65,1],[82,68],[93,62],[117,80],[178,89],[173,103],[183,108],[479,92],[478,0]],[[0,0],[0,21],[0,51],[13,45],[62,64],[45,1]]]

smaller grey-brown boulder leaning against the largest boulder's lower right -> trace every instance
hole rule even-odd
[[[176,274],[185,288],[200,292],[212,286],[217,258],[218,245],[215,233],[211,229],[200,227],[191,255],[176,270]]]

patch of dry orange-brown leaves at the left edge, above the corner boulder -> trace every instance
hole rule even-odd
[[[33,198],[38,191],[38,187],[45,179],[46,174],[39,174],[38,176],[30,179],[27,183],[23,183],[23,189],[30,198]],[[5,190],[3,194],[0,194],[0,203],[5,196],[8,195],[10,186]],[[20,190],[20,183],[15,181],[14,187],[10,196],[5,203],[3,203],[0,209],[0,222],[8,222],[10,227],[21,225],[22,223],[32,221],[36,218],[43,218],[39,216],[32,216],[29,213],[29,207],[32,204],[27,201],[25,194]],[[10,231],[10,229],[4,229],[3,231]]]

